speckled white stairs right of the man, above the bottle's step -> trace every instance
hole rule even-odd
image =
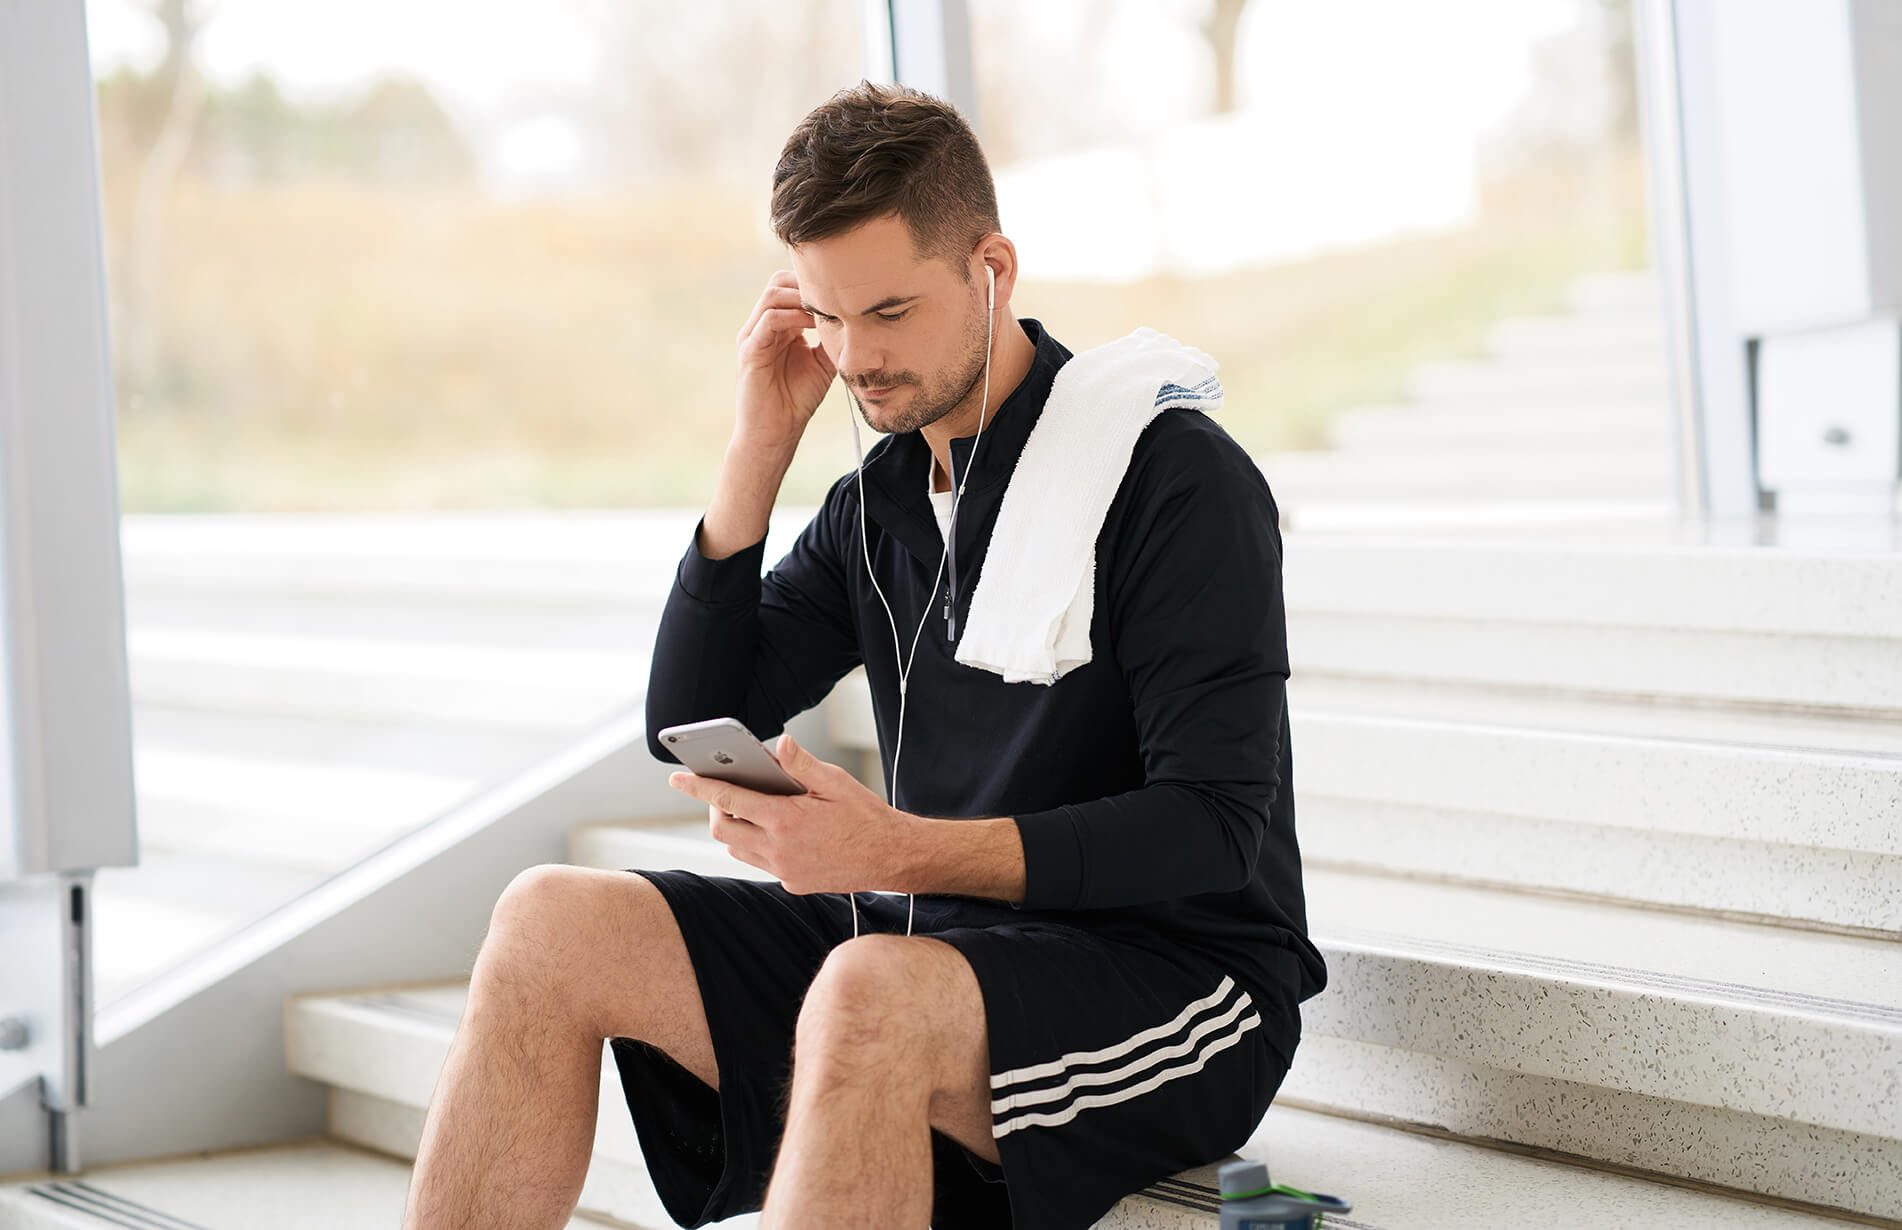
[[[1286,595],[1278,1105],[1902,1222],[1902,555],[1290,534]]]

